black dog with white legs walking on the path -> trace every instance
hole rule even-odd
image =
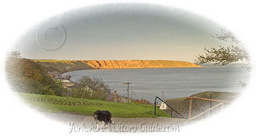
[[[101,126],[104,127],[107,123],[111,123],[114,125],[114,122],[111,120],[111,113],[109,111],[100,111],[97,110],[94,112],[94,119],[96,124],[101,123]]]

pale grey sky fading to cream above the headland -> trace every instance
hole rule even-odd
[[[52,16],[21,35],[11,50],[27,59],[183,60],[226,46],[221,26],[180,9],[107,4]]]

